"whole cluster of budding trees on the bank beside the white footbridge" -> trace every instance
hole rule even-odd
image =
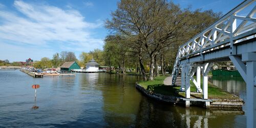
[[[181,9],[164,0],[123,0],[111,16],[105,23],[110,31],[104,45],[108,65],[118,62],[119,67],[125,67],[126,61],[133,62],[146,81],[159,76],[158,67],[163,76],[167,67],[171,72],[178,47],[211,25],[221,13]]]

